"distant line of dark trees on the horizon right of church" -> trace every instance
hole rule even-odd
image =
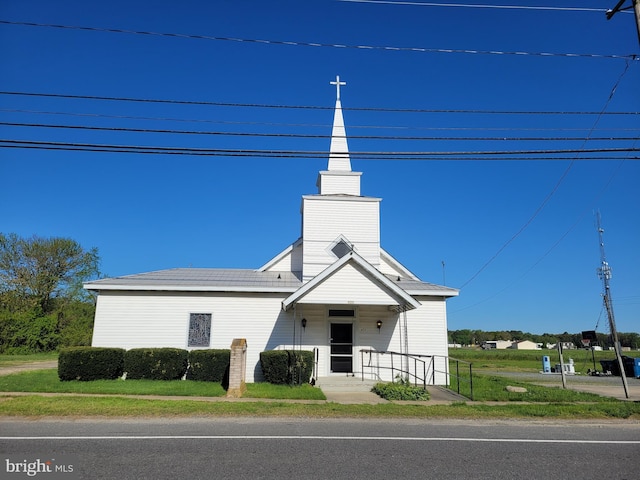
[[[598,338],[597,345],[607,348],[613,346],[611,335],[608,333],[596,332]],[[640,334],[637,333],[622,333],[618,332],[618,339],[623,347],[630,347],[633,350],[640,348]],[[483,330],[449,330],[449,343],[455,343],[464,346],[482,345],[487,341],[494,340],[512,340],[514,342],[522,340],[530,340],[535,343],[540,343],[543,346],[547,344],[556,344],[557,342],[571,342],[576,347],[582,347],[582,332],[578,333],[543,333],[537,335],[529,332],[522,332],[520,330],[499,330],[488,331]]]

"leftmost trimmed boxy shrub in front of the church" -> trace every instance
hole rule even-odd
[[[58,378],[68,380],[113,380],[122,376],[124,349],[72,347],[58,356]]]

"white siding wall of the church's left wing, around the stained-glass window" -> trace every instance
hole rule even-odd
[[[247,381],[253,382],[262,375],[260,352],[291,343],[293,317],[282,311],[282,300],[277,294],[102,292],[92,346],[190,349],[190,314],[213,312],[210,348],[247,339]]]

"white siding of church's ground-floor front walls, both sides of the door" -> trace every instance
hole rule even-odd
[[[363,291],[366,293],[366,289]],[[245,338],[248,382],[262,380],[260,352],[292,348],[294,344],[296,349],[319,349],[318,372],[324,376],[329,373],[329,323],[332,320],[328,318],[328,311],[343,308],[356,310],[355,317],[342,319],[354,325],[354,372],[362,372],[360,350],[363,348],[403,351],[399,329],[402,314],[390,311],[387,306],[354,305],[334,299],[328,303],[298,304],[283,312],[282,300],[277,294],[102,292],[98,296],[92,345],[125,349],[188,348],[190,314],[213,312],[210,348],[226,349],[234,338]],[[425,296],[419,300],[422,305],[407,312],[409,352],[446,356],[446,304],[438,297]],[[365,301],[364,296],[359,300]],[[307,320],[305,329],[302,318]],[[380,330],[376,327],[378,320],[382,321]],[[388,361],[388,356],[381,357],[381,361]],[[441,359],[438,368],[445,369]],[[392,380],[389,370],[380,372],[381,378]],[[365,369],[365,373],[371,373],[371,369]],[[445,381],[445,375],[436,376],[436,383]]]

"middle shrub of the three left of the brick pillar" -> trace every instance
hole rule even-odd
[[[187,373],[188,357],[180,348],[133,348],[124,354],[124,371],[134,380],[179,380]]]

